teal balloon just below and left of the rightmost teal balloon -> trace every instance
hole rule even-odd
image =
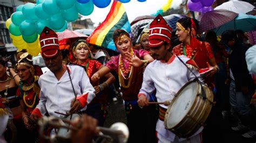
[[[78,18],[76,5],[73,5],[73,7],[68,10],[63,10],[62,17],[66,19],[68,22],[75,22]]]

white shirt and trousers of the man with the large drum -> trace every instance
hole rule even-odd
[[[179,58],[184,61],[184,63],[190,60],[184,55],[180,55]],[[183,87],[184,84],[192,81],[195,78],[195,76],[176,57],[176,55],[173,55],[169,62],[171,63],[163,63],[161,61],[154,60],[146,67],[143,76],[142,88],[140,89],[139,94],[144,94],[147,98],[149,98],[154,89],[156,89],[156,97],[158,102],[171,102],[179,89]],[[197,77],[199,77],[199,72],[197,70],[193,68],[191,68],[191,70],[194,74],[196,74]],[[165,109],[168,108],[163,104],[160,104],[160,106]],[[176,134],[165,129],[164,121],[158,119],[156,130],[167,140],[174,141]],[[194,135],[199,134],[202,130],[203,127],[201,127]],[[182,140],[186,139],[179,138],[179,141]]]

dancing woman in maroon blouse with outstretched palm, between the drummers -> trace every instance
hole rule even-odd
[[[144,67],[152,62],[153,58],[144,49],[134,49],[129,33],[122,29],[113,32],[113,40],[120,54],[112,56],[110,61],[92,76],[92,81],[98,81],[110,71],[116,71],[123,93],[127,126],[130,130],[128,142],[154,142],[152,138],[156,137],[156,126],[152,124],[148,113],[155,111],[156,106],[142,109],[137,103]]]

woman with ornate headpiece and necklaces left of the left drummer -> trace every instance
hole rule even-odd
[[[40,87],[38,85],[39,76],[35,75],[32,56],[28,53],[23,53],[20,56],[16,68],[21,81],[16,95],[19,97],[19,103],[22,109],[22,120],[27,130],[22,131],[24,137],[29,137],[29,141],[36,141],[37,131],[36,124],[32,123],[29,116],[39,102]]]

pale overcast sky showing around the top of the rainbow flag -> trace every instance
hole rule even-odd
[[[124,3],[124,7],[130,22],[138,16],[143,15],[151,15],[152,13],[156,13],[157,10],[161,9],[161,7],[168,0],[147,0],[146,2],[138,2],[137,0],[131,0],[129,3]],[[113,2],[113,0],[112,0]],[[89,16],[85,16],[84,18],[91,18],[92,22],[95,23],[95,26],[98,23],[103,22],[106,18],[107,13],[111,8],[112,2],[106,8],[100,9],[97,6],[94,6],[94,10]],[[173,0],[171,8],[178,8],[181,4],[182,0]]]

